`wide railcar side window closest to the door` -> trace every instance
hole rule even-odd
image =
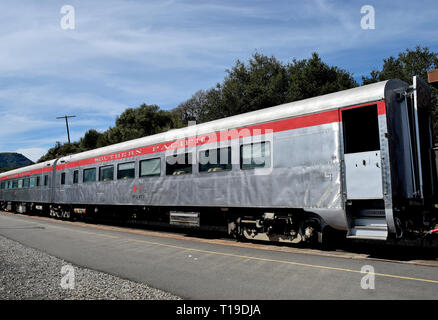
[[[271,143],[269,141],[240,146],[240,169],[271,167]]]

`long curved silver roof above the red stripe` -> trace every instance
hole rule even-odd
[[[336,109],[339,107],[346,107],[356,104],[364,104],[368,102],[378,101],[385,98],[385,90],[387,90],[387,87],[400,87],[402,83],[403,82],[401,82],[400,80],[381,81],[381,82],[377,82],[353,89],[343,90],[335,93],[330,93],[314,98],[285,103],[274,107],[243,113],[232,117],[222,118],[222,119],[205,122],[190,127],[181,128],[181,129],[173,129],[167,132],[65,156],[60,158],[60,162],[68,163],[71,161],[78,161],[81,159],[92,158],[100,155],[131,150],[138,147],[153,145],[157,143],[174,141],[186,137],[194,137],[201,134],[208,134],[208,133],[223,131],[232,128],[239,128],[239,127],[253,125],[257,123],[273,121],[276,119],[312,114],[316,112],[323,112],[331,109]],[[36,164],[34,166],[38,166],[38,165],[46,166],[47,162],[43,164]],[[35,169],[38,168],[40,167],[35,167]],[[13,173],[19,173],[22,171],[28,171],[32,169],[33,166],[24,167],[13,171],[9,171],[6,174],[3,173],[3,175],[10,175]],[[0,175],[0,177],[1,176],[2,175]]]

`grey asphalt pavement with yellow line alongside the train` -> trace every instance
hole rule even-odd
[[[183,299],[436,299],[438,268],[0,213],[0,235]]]

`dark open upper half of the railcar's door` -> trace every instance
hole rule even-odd
[[[377,105],[342,111],[344,153],[380,149]]]

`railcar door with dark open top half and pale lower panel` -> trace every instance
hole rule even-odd
[[[382,199],[377,104],[341,110],[347,199]]]

